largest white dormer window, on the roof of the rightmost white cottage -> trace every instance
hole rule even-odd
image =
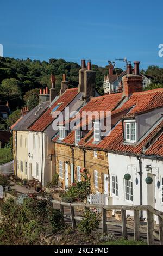
[[[136,142],[136,122],[135,120],[125,120],[125,141]]]

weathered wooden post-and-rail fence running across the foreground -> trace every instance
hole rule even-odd
[[[122,227],[122,236],[124,239],[128,238],[127,228],[134,230],[134,240],[140,240],[140,232],[147,233],[148,245],[154,245],[154,237],[160,241],[160,245],[163,245],[163,212],[154,209],[151,205],[95,205],[95,204],[84,204],[84,203],[65,203],[57,200],[51,201],[54,204],[59,204],[60,211],[64,214],[64,207],[70,209],[70,218],[72,228],[76,229],[76,220],[82,220],[83,217],[75,216],[74,208],[83,207],[85,209],[96,208],[102,210],[102,233],[107,234],[108,225],[116,225]],[[107,220],[107,210],[120,210],[122,216],[122,222],[109,222]],[[127,224],[126,210],[133,211],[134,225]],[[147,226],[140,225],[140,211],[147,212]],[[154,215],[158,216],[159,219],[159,234],[154,230]],[[63,221],[64,222],[64,221]],[[63,223],[64,224],[64,223]]]

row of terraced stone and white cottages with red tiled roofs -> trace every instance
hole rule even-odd
[[[58,93],[52,75],[51,89],[40,89],[39,105],[23,108],[11,127],[15,174],[46,187],[57,173],[65,188],[81,181],[86,168],[92,193],[105,194],[106,204],[150,204],[163,211],[163,89],[142,91],[139,62],[134,65],[118,92],[103,96],[95,90],[90,61],[86,66],[82,60],[78,88],[68,89],[64,74]],[[110,129],[103,132],[106,120]]]

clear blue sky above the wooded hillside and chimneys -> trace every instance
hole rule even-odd
[[[127,57],[141,68],[163,66],[163,1],[1,0],[0,10],[5,57],[84,58],[99,66]]]

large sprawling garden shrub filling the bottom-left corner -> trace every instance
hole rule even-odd
[[[62,228],[63,215],[46,200],[9,198],[1,205],[0,245],[39,245],[40,234]]]

